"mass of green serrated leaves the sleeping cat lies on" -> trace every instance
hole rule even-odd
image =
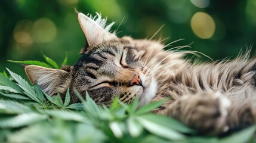
[[[54,66],[55,62],[47,59]],[[70,104],[69,89],[63,97],[51,97],[7,70],[10,79],[0,73],[0,142],[255,141],[256,126],[221,138],[198,136],[196,130],[175,119],[149,113],[166,100],[138,108],[138,98],[129,105],[115,98],[107,108],[97,105],[88,93],[85,97],[77,93],[82,103]]]

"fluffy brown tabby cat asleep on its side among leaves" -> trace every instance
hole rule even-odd
[[[78,13],[87,44],[75,66],[60,70],[26,66],[32,83],[49,95],[65,94],[80,102],[75,91],[90,94],[97,104],[109,105],[119,96],[139,106],[169,97],[155,110],[199,132],[218,135],[256,121],[256,58],[249,54],[218,63],[192,64],[189,51],[164,51],[161,41],[118,38],[101,15]],[[181,46],[180,48],[182,48]]]

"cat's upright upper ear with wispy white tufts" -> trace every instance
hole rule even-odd
[[[78,13],[78,21],[89,46],[117,38],[115,34],[109,32],[114,23],[106,26],[107,20],[101,19],[100,14],[92,18],[91,16],[88,17],[85,14]]]

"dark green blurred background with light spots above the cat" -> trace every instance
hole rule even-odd
[[[84,45],[74,8],[116,21],[118,36],[192,43],[192,50],[214,60],[235,57],[256,40],[255,0],[1,0],[0,71],[5,67],[24,76],[18,64],[7,60],[43,60],[41,51],[61,63],[65,51],[75,64]],[[122,21],[122,23],[121,23]],[[255,46],[252,47],[255,51]]]

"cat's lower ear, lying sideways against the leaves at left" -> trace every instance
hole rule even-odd
[[[64,93],[70,84],[70,73],[64,70],[34,65],[25,66],[24,69],[30,82],[37,83],[48,95]]]

